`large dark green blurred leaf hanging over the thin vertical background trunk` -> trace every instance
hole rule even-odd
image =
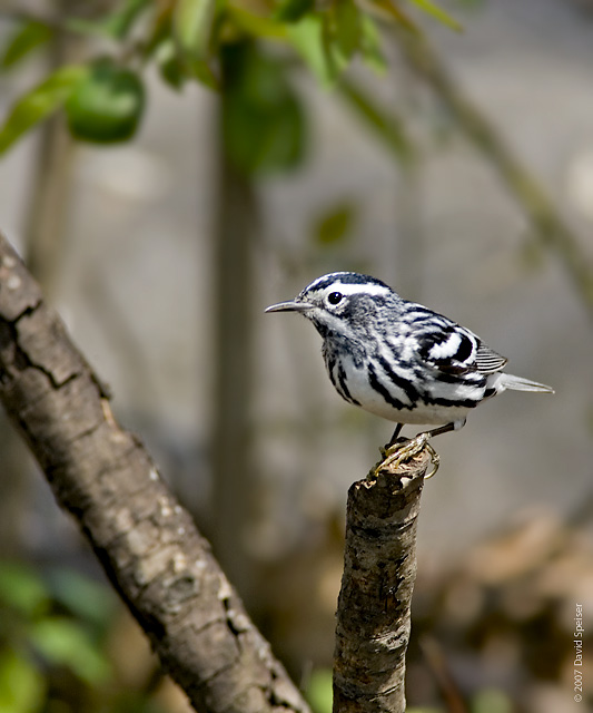
[[[246,43],[225,49],[224,67],[223,131],[229,159],[247,175],[297,166],[305,153],[306,124],[287,67]]]

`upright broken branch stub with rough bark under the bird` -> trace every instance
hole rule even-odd
[[[334,713],[404,713],[416,521],[429,457],[348,492],[334,653]]]

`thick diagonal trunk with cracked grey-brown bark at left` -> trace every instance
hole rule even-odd
[[[162,666],[202,713],[308,711],[108,399],[0,234],[0,400]]]

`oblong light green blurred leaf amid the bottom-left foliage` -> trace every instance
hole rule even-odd
[[[48,617],[29,631],[37,651],[53,665],[67,666],[90,685],[110,677],[111,667],[91,636],[79,623],[67,617]]]

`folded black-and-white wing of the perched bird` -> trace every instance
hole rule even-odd
[[[424,362],[451,374],[471,371],[494,373],[506,359],[486,346],[470,330],[448,320],[432,320],[418,335],[418,355]]]

